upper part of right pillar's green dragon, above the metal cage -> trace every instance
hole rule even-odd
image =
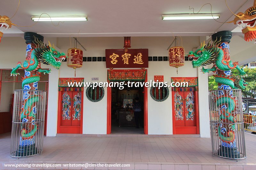
[[[190,51],[188,57],[193,59],[192,66],[193,68],[197,68],[205,66],[205,64],[213,64],[211,69],[204,69],[204,67],[202,67],[202,72],[215,72],[216,75],[214,75],[214,77],[217,83],[227,85],[231,88],[241,88],[244,90],[247,83],[245,83],[242,76],[246,75],[246,73],[243,68],[240,69],[238,62],[232,63],[229,55],[226,55],[226,52],[221,50],[221,48],[229,48],[228,44],[225,44],[224,42],[220,44],[220,42],[221,39],[219,41],[215,40],[213,44],[209,41],[207,46],[205,44],[201,44],[201,48],[197,49],[195,52]],[[217,48],[219,45],[221,48]],[[231,70],[235,68],[240,73],[237,77],[233,76],[231,73]],[[220,71],[223,71],[225,76],[219,74]]]

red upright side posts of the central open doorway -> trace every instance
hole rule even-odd
[[[147,70],[147,69],[145,69]],[[145,75],[148,82],[148,70]],[[148,135],[148,88],[144,85],[144,134]],[[107,88],[107,134],[111,133],[111,87]]]

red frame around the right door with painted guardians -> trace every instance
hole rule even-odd
[[[194,108],[195,108],[195,111],[196,111],[196,114],[195,114],[195,119],[196,119],[196,134],[200,134],[199,132],[199,109],[198,109],[198,91],[194,91],[195,92],[195,105],[194,105]],[[176,128],[175,128],[175,115],[174,115],[174,112],[173,112],[173,109],[174,109],[174,93],[175,91],[172,91],[172,133],[173,135],[176,134]],[[184,128],[194,128],[195,126],[184,126]],[[186,134],[186,133],[184,133]],[[190,134],[190,133],[188,133]]]

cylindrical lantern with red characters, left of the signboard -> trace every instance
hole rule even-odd
[[[67,52],[67,66],[73,69],[83,66],[83,50],[79,48],[69,48]],[[76,77],[76,70],[75,70]]]

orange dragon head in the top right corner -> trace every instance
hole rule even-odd
[[[244,13],[238,12],[234,21],[231,22],[242,27],[245,41],[256,40],[256,0]]]

